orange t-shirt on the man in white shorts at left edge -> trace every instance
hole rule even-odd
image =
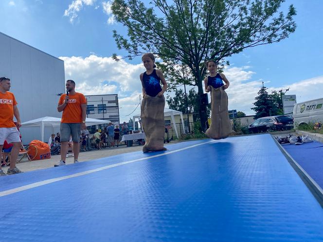
[[[14,123],[14,106],[17,105],[13,93],[0,92],[0,128],[16,127]]]

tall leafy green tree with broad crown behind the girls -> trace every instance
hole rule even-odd
[[[188,69],[190,83],[203,93],[206,59],[223,65],[226,57],[246,48],[279,42],[293,33],[296,11],[289,6],[279,12],[284,0],[152,0],[146,7],[140,0],[114,0],[112,13],[126,26],[127,37],[113,31],[119,49],[133,58],[145,52],[157,54],[176,76]],[[117,54],[113,57],[118,59]],[[227,63],[229,64],[229,63]],[[183,83],[185,78],[172,78]],[[199,102],[197,102],[199,104]],[[205,130],[206,107],[198,108]]]

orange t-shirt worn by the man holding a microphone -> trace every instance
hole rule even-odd
[[[63,94],[58,102],[58,105],[62,105],[65,101],[66,94]],[[75,94],[69,94],[69,103],[65,106],[62,115],[62,121],[65,123],[80,123],[82,122],[82,108],[81,104],[86,104],[87,100],[82,93],[76,92]]]

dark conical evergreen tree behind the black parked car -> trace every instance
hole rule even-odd
[[[262,86],[258,91],[258,96],[254,98],[256,102],[253,103],[254,107],[251,107],[256,112],[254,119],[277,115],[279,112],[277,105],[272,96],[268,94],[267,89],[266,86]]]

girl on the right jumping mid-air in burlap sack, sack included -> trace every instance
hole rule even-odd
[[[228,96],[224,91],[230,83],[223,73],[217,73],[215,60],[205,64],[210,72],[204,79],[205,91],[211,91],[211,124],[205,134],[214,139],[227,138],[233,132],[228,113]]]

